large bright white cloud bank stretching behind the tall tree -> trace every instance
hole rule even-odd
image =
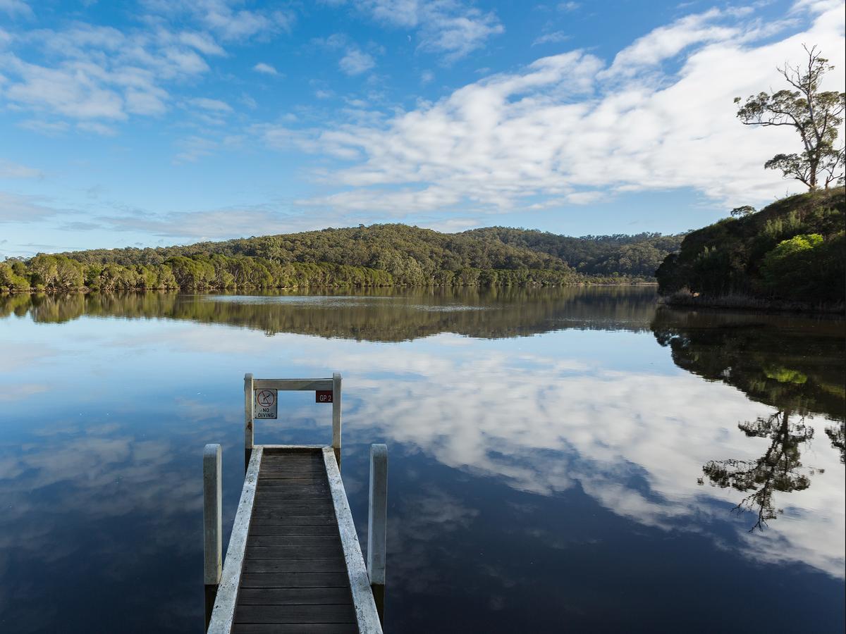
[[[711,24],[731,18],[736,24]],[[785,128],[742,126],[733,97],[780,85],[776,65],[804,55],[801,43],[809,41],[838,68],[827,90],[843,90],[843,12],[821,14],[804,32],[764,44],[752,37],[770,32],[745,19],[698,14],[640,38],[610,66],[568,52],[409,112],[374,112],[372,123],[271,126],[262,134],[351,161],[318,176],[335,192],[301,201],[338,210],[460,208],[478,216],[678,188],[720,204],[760,204],[799,190],[762,167],[797,139]],[[684,49],[680,68],[662,69],[662,60]]]

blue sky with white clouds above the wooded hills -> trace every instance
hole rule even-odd
[[[678,232],[800,191],[734,96],[843,3],[0,0],[0,257],[360,223]]]

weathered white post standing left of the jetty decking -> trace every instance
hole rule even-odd
[[[206,586],[206,629],[222,571],[222,480],[220,445],[203,449],[203,582]]]

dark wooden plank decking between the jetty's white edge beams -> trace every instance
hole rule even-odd
[[[358,631],[320,450],[262,456],[233,631]]]

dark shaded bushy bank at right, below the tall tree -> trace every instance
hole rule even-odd
[[[842,187],[791,196],[689,233],[656,271],[664,295],[744,295],[807,304],[846,295],[846,194]]]

